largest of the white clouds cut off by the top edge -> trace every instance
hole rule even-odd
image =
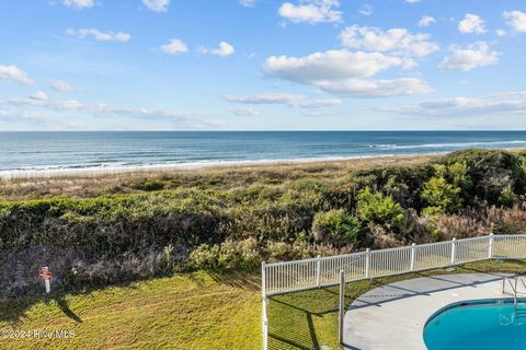
[[[338,7],[339,0],[304,0],[299,4],[284,2],[278,13],[294,23],[334,23],[342,21],[342,12],[334,10]]]

